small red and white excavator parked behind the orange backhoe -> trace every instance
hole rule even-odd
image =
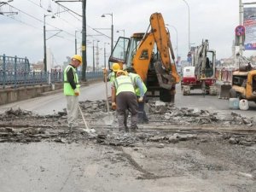
[[[195,49],[192,54],[192,66],[183,67],[181,87],[183,96],[190,95],[190,90],[201,89],[202,93],[216,95],[216,51],[209,49],[208,40]]]

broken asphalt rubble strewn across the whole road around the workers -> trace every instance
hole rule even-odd
[[[110,103],[109,103],[110,104]],[[120,132],[117,128],[116,118],[113,125],[103,122],[104,115],[108,113],[106,101],[80,102],[80,107],[88,121],[90,128],[96,133],[84,131],[83,121],[80,118],[79,130],[69,131],[67,128],[66,110],[54,115],[38,115],[20,108],[10,108],[0,114],[0,142],[59,142],[80,143],[94,141],[96,143],[114,146],[134,146],[135,143],[158,143],[158,147],[164,147],[166,143],[178,143],[182,141],[206,142],[212,138],[228,141],[231,144],[252,145],[256,143],[255,134],[226,134],[219,133],[218,128],[235,125],[239,129],[252,129],[255,126],[253,119],[242,117],[237,113],[219,115],[207,110],[175,108],[172,104],[150,101],[147,103],[149,124],[139,125],[137,132]],[[239,126],[238,126],[239,125]],[[195,127],[214,127],[212,130],[193,129]],[[160,129],[161,128],[161,129]],[[211,139],[209,139],[209,134]],[[214,137],[212,137],[214,136]]]

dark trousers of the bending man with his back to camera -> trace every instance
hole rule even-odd
[[[116,96],[119,130],[125,130],[125,111],[131,112],[131,129],[137,127],[137,96],[130,91],[120,92]]]

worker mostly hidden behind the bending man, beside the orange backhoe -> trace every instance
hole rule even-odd
[[[134,72],[133,70],[131,70]],[[131,77],[132,84],[135,89],[135,94],[137,96],[138,101],[138,124],[148,124],[148,117],[144,110],[144,104],[145,104],[145,94],[147,92],[147,87],[143,82],[143,79],[137,74],[137,73],[129,73],[129,76]]]

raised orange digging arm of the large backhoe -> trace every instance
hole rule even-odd
[[[147,32],[143,37],[133,57],[133,67],[143,80],[147,79],[148,67],[153,56],[154,44],[156,44],[160,55],[160,62],[155,63],[155,70],[158,73],[159,82],[163,82],[160,86],[166,88],[166,84],[168,84],[168,88],[166,89],[170,90],[173,84],[179,82],[177,68],[174,64],[175,56],[170,40],[170,33],[166,30],[164,19],[160,13],[151,15],[150,25],[150,32]]]

